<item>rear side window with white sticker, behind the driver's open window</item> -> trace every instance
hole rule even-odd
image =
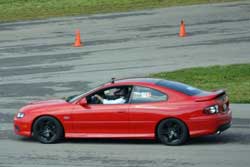
[[[135,86],[131,97],[131,103],[147,103],[167,100],[166,94],[142,86]]]

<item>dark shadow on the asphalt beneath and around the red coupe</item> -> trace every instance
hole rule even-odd
[[[21,142],[37,142],[33,138],[19,137],[14,134],[9,136],[9,139],[13,139]],[[59,142],[67,144],[161,144],[157,140],[145,140],[145,139],[64,139]],[[185,145],[214,145],[214,144],[250,144],[250,130],[237,128],[230,129],[220,135],[210,135],[205,137],[192,138],[187,141]]]

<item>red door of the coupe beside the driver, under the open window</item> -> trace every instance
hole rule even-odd
[[[91,98],[101,91],[94,92],[86,98]],[[72,113],[74,131],[81,133],[83,137],[122,137],[128,135],[128,108],[128,103],[91,104],[88,102],[85,106],[78,105]]]

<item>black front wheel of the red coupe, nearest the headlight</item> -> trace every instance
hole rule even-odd
[[[33,137],[44,144],[56,143],[64,134],[60,122],[50,116],[38,118],[33,124],[32,131]]]

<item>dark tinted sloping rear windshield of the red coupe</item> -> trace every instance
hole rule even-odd
[[[156,85],[163,86],[169,89],[173,89],[175,91],[184,93],[189,96],[194,96],[203,92],[202,90],[198,88],[195,88],[195,87],[192,87],[190,85],[186,85],[180,82],[174,82],[174,81],[161,80],[157,82]]]

